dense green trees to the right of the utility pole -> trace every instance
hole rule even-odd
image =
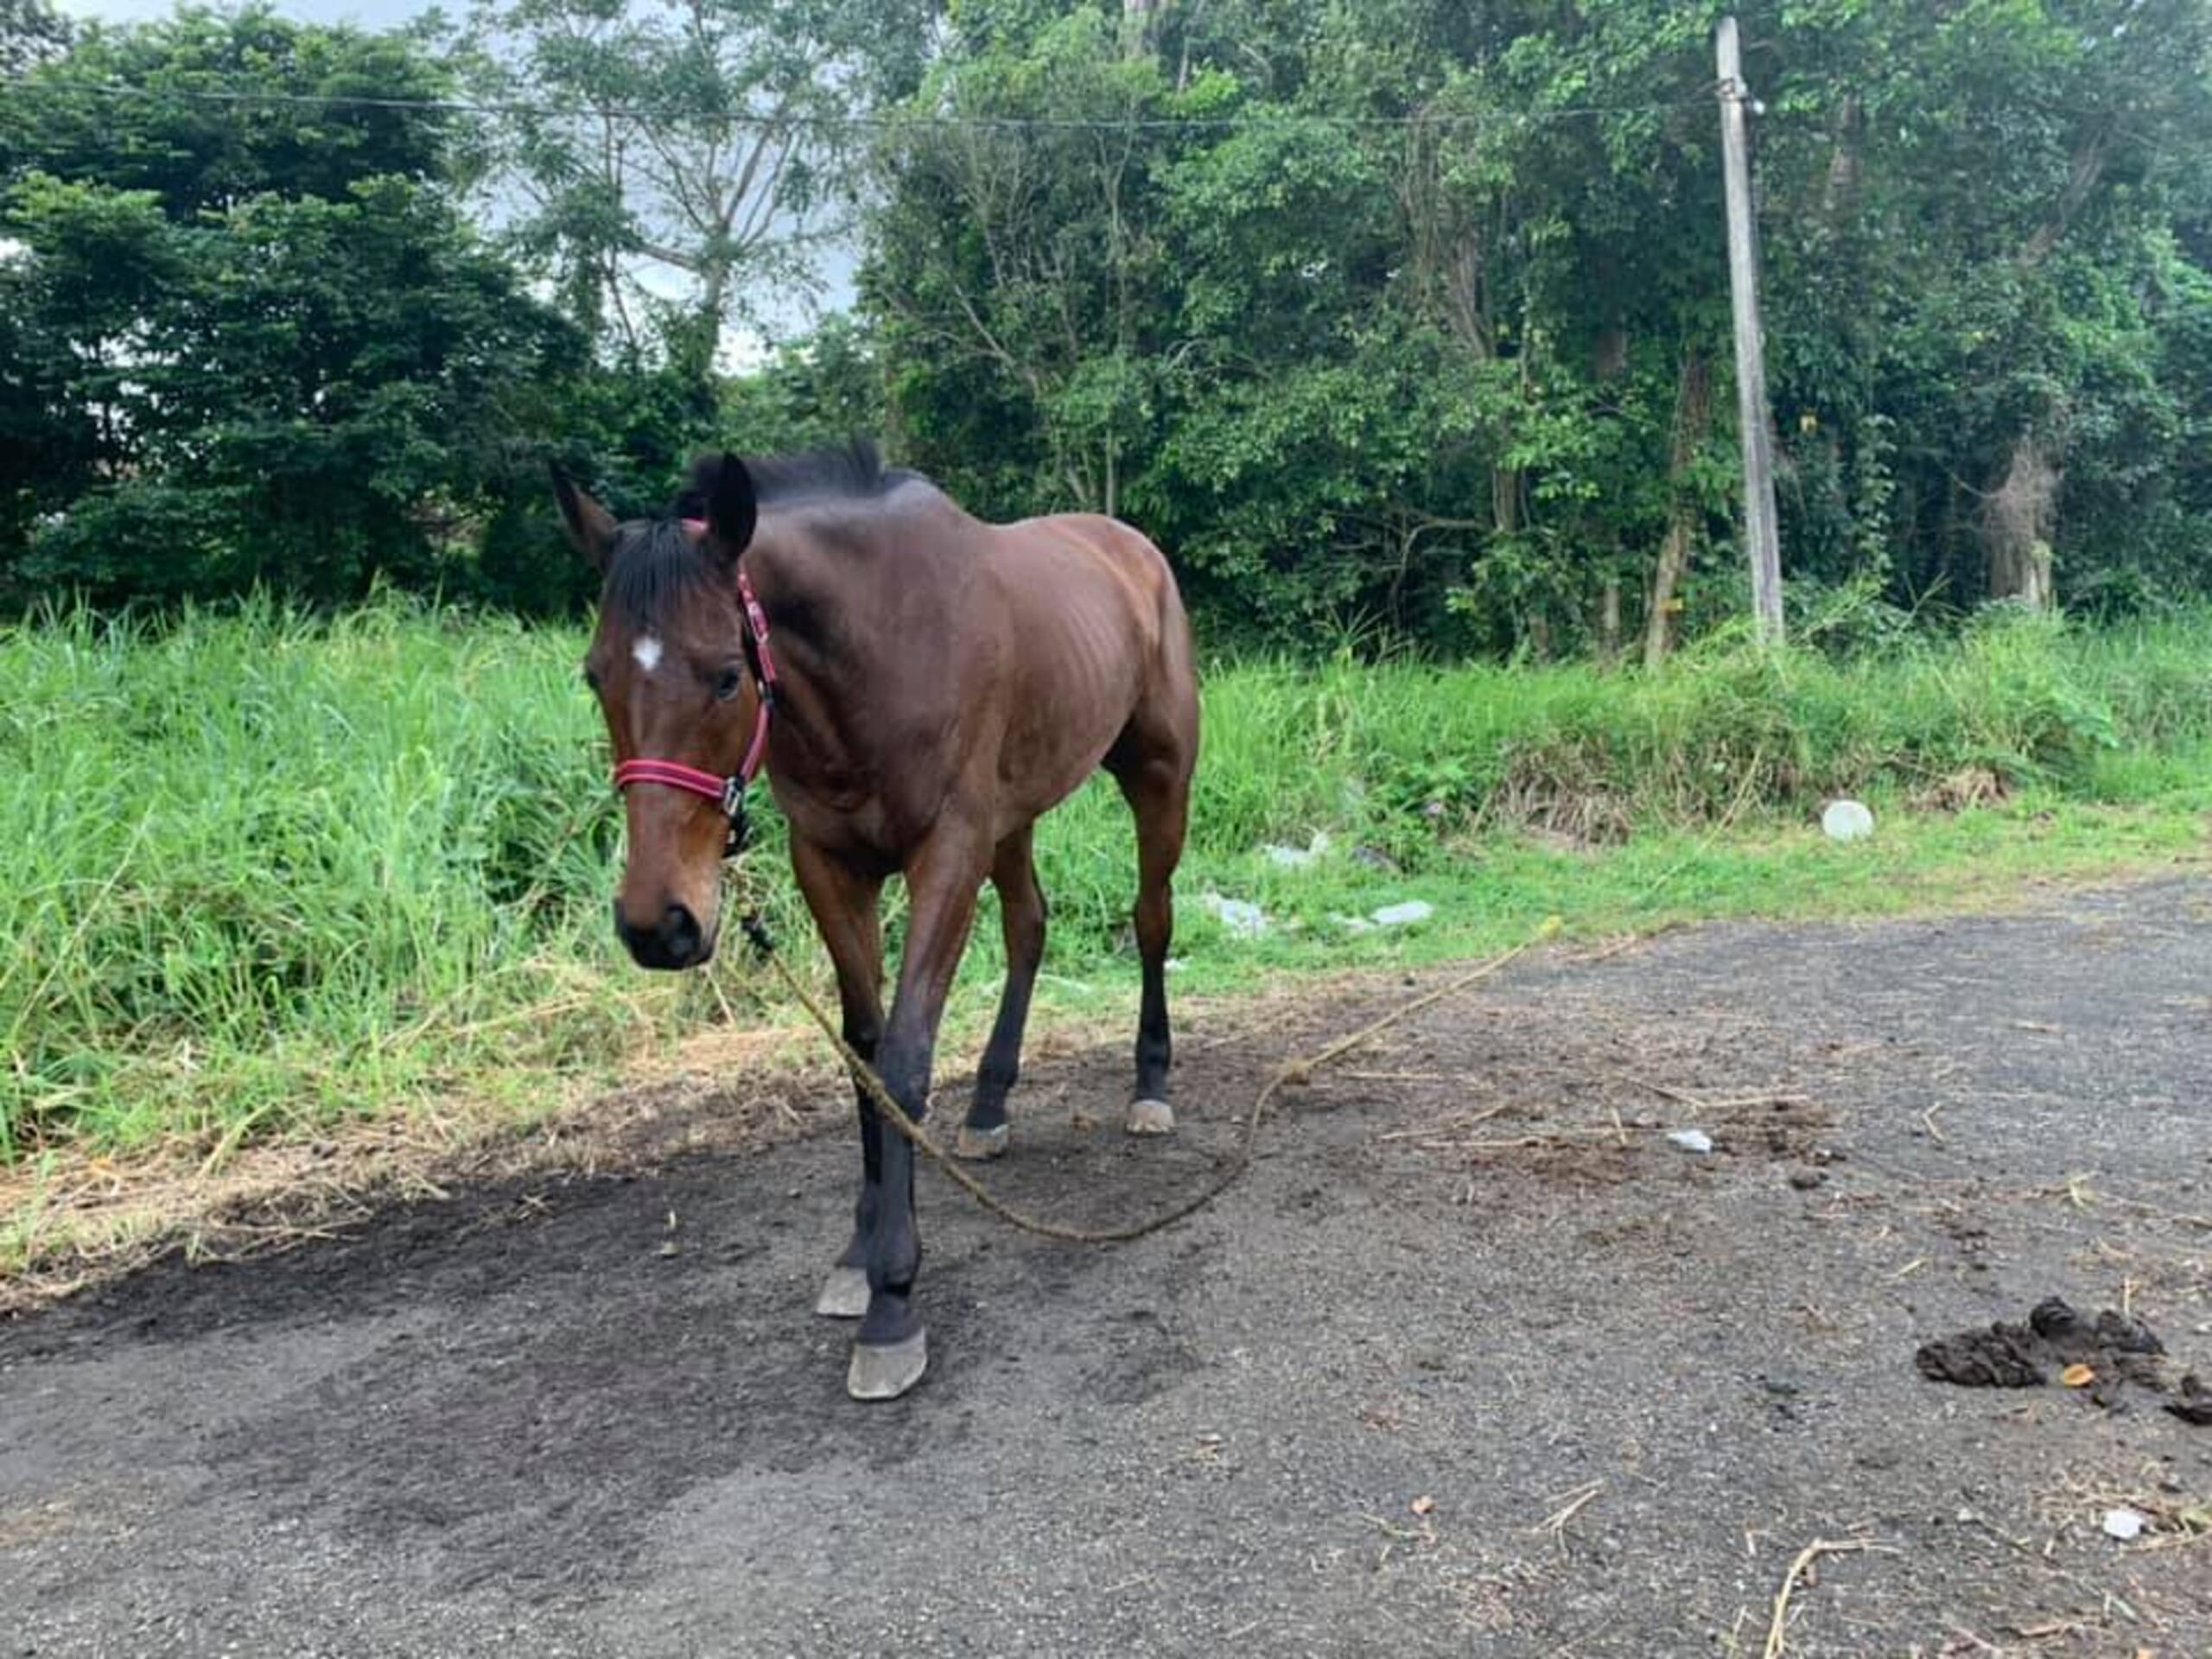
[[[2194,0],[1761,20],[1801,568],[2044,604],[2132,582],[2152,522],[2208,546],[2157,301],[2212,159],[2208,31]]]

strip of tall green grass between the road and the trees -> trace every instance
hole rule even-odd
[[[787,1013],[741,951],[681,980],[619,956],[619,814],[580,650],[575,630],[398,602],[0,628],[0,1161],[219,1148],[449,1095],[529,1110],[639,1042]],[[1177,984],[1489,951],[1553,911],[1584,933],[1880,914],[2192,858],[2208,761],[2212,617],[2015,619],[1880,659],[1714,653],[1652,677],[1223,666]],[[1911,810],[1960,774],[2008,796]],[[1876,805],[1871,843],[1812,827],[1834,792]],[[1316,832],[1310,869],[1261,854]],[[1040,865],[1044,1004],[1133,1004],[1110,787],[1046,821]],[[772,814],[754,867],[818,973]],[[1263,905],[1270,931],[1228,936],[1208,891]],[[1332,920],[1405,898],[1436,918]],[[998,967],[987,909],[962,1035]]]

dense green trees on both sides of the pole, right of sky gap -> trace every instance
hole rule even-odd
[[[967,0],[869,219],[894,420],[1217,630],[1657,661],[1743,604],[1721,9]],[[1741,11],[1792,602],[2203,588],[2212,11]]]

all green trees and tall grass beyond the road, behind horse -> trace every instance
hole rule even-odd
[[[1732,9],[1781,655],[1739,644],[1721,0],[0,0],[0,1157],[763,1013],[741,953],[608,940],[549,458],[646,509],[692,447],[880,429],[987,515],[1150,531],[1245,653],[1186,987],[2194,849],[2212,7]],[[1832,792],[1871,845],[1807,827]],[[1040,858],[1044,995],[1110,1002],[1110,792]],[[1345,920],[1394,898],[1436,918]],[[960,1011],[995,971],[987,918]]]

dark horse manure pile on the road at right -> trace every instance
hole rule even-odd
[[[2152,1394],[2183,1422],[2212,1427],[2212,1387],[2197,1371],[2172,1380],[2157,1332],[2110,1307],[2086,1318],[2059,1296],[2037,1303],[2026,1325],[1997,1321],[1922,1343],[1913,1365],[1964,1389],[2035,1389],[2055,1376],[2106,1411],[2126,1411],[2130,1391]]]

